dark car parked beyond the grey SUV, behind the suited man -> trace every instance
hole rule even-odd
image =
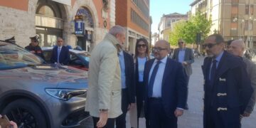
[[[50,57],[53,52],[53,47],[43,47],[43,55],[47,63],[50,63]],[[70,49],[70,62],[69,66],[78,68],[81,70],[88,70],[89,61],[90,61],[90,53],[87,53],[85,50],[75,50]]]

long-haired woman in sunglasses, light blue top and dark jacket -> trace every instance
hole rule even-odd
[[[131,115],[137,114],[136,117],[133,117],[131,120],[132,127],[139,127],[139,117],[144,117],[144,95],[145,95],[145,85],[144,85],[144,66],[149,57],[149,43],[145,38],[139,38],[135,46],[135,87],[136,87],[136,106],[137,112],[130,113]]]

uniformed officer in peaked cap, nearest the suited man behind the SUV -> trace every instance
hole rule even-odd
[[[29,43],[28,46],[26,46],[26,50],[29,50],[31,53],[38,55],[39,57],[43,58],[43,60],[45,59],[43,56],[43,50],[41,49],[40,46],[38,46],[38,36],[33,36],[30,37],[31,39],[31,43]]]

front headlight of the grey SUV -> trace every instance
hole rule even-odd
[[[47,88],[46,93],[59,100],[70,100],[70,98],[86,94],[86,90],[53,89]]]

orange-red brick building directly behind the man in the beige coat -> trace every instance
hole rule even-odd
[[[149,41],[149,0],[116,0],[116,25],[124,26],[127,39],[124,50],[135,53],[138,38]]]

